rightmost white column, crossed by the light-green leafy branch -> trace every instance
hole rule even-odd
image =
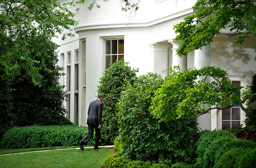
[[[204,46],[202,50],[195,50],[194,53],[195,60],[194,60],[194,67],[196,69],[200,69],[204,66],[210,66],[211,65],[211,48],[210,45]],[[210,81],[210,78],[208,79]],[[211,130],[211,127],[214,126],[215,122],[212,121],[214,118],[216,119],[216,116],[211,116],[211,115],[216,115],[214,112],[211,114],[211,112],[208,114],[204,114],[202,116],[199,116],[197,118],[198,122],[198,127],[201,128],[202,130]]]

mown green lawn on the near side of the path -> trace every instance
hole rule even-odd
[[[42,150],[42,148],[38,148]],[[108,148],[85,148],[67,150],[50,150],[24,154],[0,156],[1,168],[101,168],[104,159],[112,154]]]

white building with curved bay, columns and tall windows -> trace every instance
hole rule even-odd
[[[173,26],[194,12],[196,0],[141,0],[136,14],[122,12],[120,0],[106,3],[97,0],[97,3],[101,8],[91,11],[87,10],[89,4],[70,7],[79,20],[74,27],[76,35],[64,41],[56,40],[60,45],[59,64],[66,74],[60,83],[66,85],[69,95],[64,105],[75,124],[86,125],[87,109],[96,98],[99,78],[117,58],[124,58],[134,69],[139,68],[138,75],[155,72],[165,76],[162,71],[175,65],[216,66],[227,71],[230,79],[241,86],[251,83],[256,70],[256,37],[235,45],[234,37],[225,36],[229,30],[222,30],[211,45],[182,58],[176,56],[179,44],[172,41],[176,36]],[[244,112],[234,107],[231,114],[212,110],[200,116],[198,123],[202,129],[222,129],[222,126],[242,124],[244,117]]]

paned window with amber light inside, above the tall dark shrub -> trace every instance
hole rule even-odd
[[[105,40],[105,68],[124,58],[124,39]]]

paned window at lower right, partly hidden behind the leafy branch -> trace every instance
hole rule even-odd
[[[231,84],[241,85],[241,81],[231,80]],[[241,122],[241,108],[240,106],[234,106],[232,108],[222,110],[222,129],[226,130],[228,128],[233,128],[235,126],[240,126]]]

